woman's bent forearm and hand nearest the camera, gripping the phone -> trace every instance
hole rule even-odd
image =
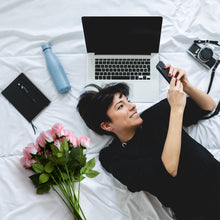
[[[213,111],[216,107],[215,101],[205,92],[194,87],[188,80],[186,72],[182,69],[174,68],[171,65],[166,65],[170,68],[169,76],[180,80],[183,84],[183,91],[187,93],[196,104],[203,110]]]

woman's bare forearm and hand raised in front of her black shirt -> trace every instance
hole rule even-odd
[[[186,94],[180,80],[172,78],[167,99],[170,104],[170,120],[161,160],[167,172],[175,177],[179,166],[183,112],[186,105]]]

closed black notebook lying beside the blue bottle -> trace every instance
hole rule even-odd
[[[50,103],[24,73],[11,82],[2,94],[29,122]]]

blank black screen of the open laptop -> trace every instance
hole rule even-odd
[[[158,53],[162,17],[82,17],[88,53]]]

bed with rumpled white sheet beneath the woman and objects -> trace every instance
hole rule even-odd
[[[100,174],[86,178],[81,185],[81,206],[88,220],[171,220],[172,213],[147,192],[131,193],[107,173],[98,155],[110,139],[89,130],[76,105],[86,85],[87,56],[81,17],[85,15],[162,16],[160,59],[184,68],[189,80],[207,91],[211,71],[196,62],[187,49],[195,39],[220,40],[220,4],[218,0],[11,0],[0,4],[0,89],[3,90],[21,72],[51,100],[34,119],[32,126],[0,95],[0,219],[70,220],[73,219],[60,198],[51,190],[37,195],[28,178],[31,171],[21,163],[22,151],[44,130],[55,123],[76,136],[91,138],[87,157],[96,159]],[[41,45],[51,42],[72,89],[58,94],[47,71]],[[215,52],[219,48],[215,47]],[[160,76],[160,97],[166,97],[168,84]],[[220,68],[210,91],[220,98]],[[138,111],[147,104],[137,103]],[[186,129],[220,161],[220,114]],[[190,199],[190,198],[189,198]]]

